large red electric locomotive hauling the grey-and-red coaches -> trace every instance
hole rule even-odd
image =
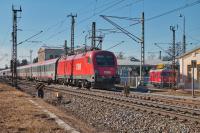
[[[111,88],[117,80],[117,60],[109,51],[95,50],[63,56],[57,64],[58,82],[87,88]]]

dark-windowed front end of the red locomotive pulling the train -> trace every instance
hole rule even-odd
[[[111,88],[117,81],[117,61],[112,52],[98,51],[93,56],[95,86]]]

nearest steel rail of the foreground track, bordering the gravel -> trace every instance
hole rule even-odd
[[[132,108],[134,110],[142,110],[144,112],[150,112],[150,113],[155,113],[155,114],[159,114],[159,115],[164,115],[164,116],[168,116],[168,117],[172,117],[174,119],[179,118],[182,120],[188,120],[188,121],[193,121],[193,122],[197,122],[200,123],[200,117],[194,117],[192,115],[187,115],[187,114],[182,114],[179,112],[174,112],[173,109],[167,109],[166,108],[161,108],[159,106],[146,106],[145,104],[141,104],[141,103],[133,103],[131,101],[127,102],[124,100],[120,100],[120,98],[114,98],[114,97],[106,97],[106,96],[99,96],[99,95],[93,95],[93,94],[89,94],[89,93],[83,93],[80,91],[74,91],[74,90],[68,90],[68,89],[57,89],[57,88],[51,88],[48,87],[46,88],[47,90],[50,91],[55,91],[55,92],[62,92],[63,94],[70,94],[73,96],[79,96],[82,98],[88,98],[91,100],[97,100],[100,102],[106,102],[112,105],[118,105],[118,106],[122,106],[122,107],[128,107],[128,108]],[[77,93],[78,92],[78,93]]]

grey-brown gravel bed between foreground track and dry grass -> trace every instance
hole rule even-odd
[[[45,99],[52,102],[53,93],[46,92]],[[54,100],[55,101],[55,100]],[[158,114],[136,111],[109,105],[104,102],[65,95],[63,104],[67,111],[85,121],[98,131],[104,132],[200,132],[200,124],[185,122]]]

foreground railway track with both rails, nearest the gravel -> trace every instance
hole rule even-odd
[[[168,104],[160,104],[157,102],[139,100],[127,97],[116,97],[114,95],[109,94],[101,94],[97,92],[91,91],[80,91],[80,90],[70,90],[70,89],[61,89],[55,87],[48,87],[47,90],[54,92],[61,92],[63,94],[69,94],[73,96],[78,96],[90,100],[97,100],[100,102],[105,102],[111,105],[116,105],[124,108],[130,108],[134,110],[140,110],[148,113],[156,113],[159,115],[164,115],[167,117],[172,117],[173,119],[181,119],[183,121],[193,121],[200,123],[200,110],[182,107],[182,106],[174,106]]]

